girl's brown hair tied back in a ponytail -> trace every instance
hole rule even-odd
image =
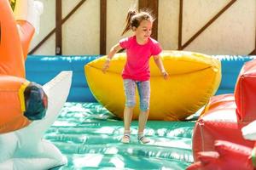
[[[149,20],[153,22],[154,17],[148,10],[137,12],[135,9],[129,9],[125,20],[125,30],[121,35],[123,36],[127,31],[131,30],[133,26],[135,26],[136,28],[140,26],[143,20]]]

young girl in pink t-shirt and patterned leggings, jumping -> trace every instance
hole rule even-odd
[[[165,79],[168,77],[168,73],[160,59],[160,52],[162,51],[160,44],[150,37],[153,22],[154,18],[148,12],[141,11],[137,13],[135,10],[129,10],[126,17],[125,30],[122,35],[131,30],[134,32],[134,36],[123,38],[118,44],[114,45],[113,48],[111,48],[108,58],[102,68],[102,71],[106,72],[113,55],[122,48],[126,49],[127,59],[125,68],[122,72],[125,88],[125,132],[122,138],[123,143],[130,142],[132,112],[136,105],[136,87],[140,97],[141,111],[138,120],[137,139],[143,144],[150,142],[149,139],[144,137],[143,131],[148,120],[150,99],[150,71],[148,61],[151,56],[154,57],[154,62],[160,69],[163,77]]]

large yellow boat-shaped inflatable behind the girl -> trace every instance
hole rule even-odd
[[[161,57],[170,77],[164,80],[154,60],[150,60],[151,99],[148,119],[184,120],[215,94],[221,80],[220,62],[206,54],[184,51],[164,51]],[[115,54],[105,74],[102,65],[106,56],[84,65],[90,90],[98,102],[120,118],[123,118],[125,105],[121,77],[125,58],[125,53]],[[139,115],[138,103],[137,96],[133,119]]]

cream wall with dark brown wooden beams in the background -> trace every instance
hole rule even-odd
[[[255,0],[40,1],[44,14],[31,54],[108,54],[131,7],[153,11],[152,37],[164,49],[256,54]]]

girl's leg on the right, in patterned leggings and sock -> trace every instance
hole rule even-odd
[[[140,96],[140,115],[138,122],[138,133],[137,139],[143,144],[150,142],[149,139],[144,137],[144,128],[148,121],[148,109],[149,109],[149,99],[150,99],[150,82],[137,82],[138,93]]]

